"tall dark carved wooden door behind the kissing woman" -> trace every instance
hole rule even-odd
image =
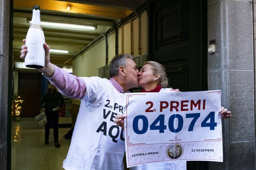
[[[207,1],[156,0],[149,9],[149,58],[163,64],[169,85],[180,91],[207,90]],[[188,161],[187,169],[208,169]]]

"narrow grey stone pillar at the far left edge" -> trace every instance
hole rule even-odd
[[[7,102],[10,0],[0,0],[0,169],[7,164]]]

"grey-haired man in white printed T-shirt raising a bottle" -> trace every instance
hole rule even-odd
[[[25,42],[25,40],[23,40]],[[79,113],[63,168],[67,170],[124,169],[123,130],[114,123],[124,113],[124,92],[138,86],[138,69],[130,55],[117,55],[110,67],[110,80],[77,78],[50,63],[50,47],[44,43],[45,67],[38,69],[59,91],[81,99]],[[24,59],[23,45],[20,58]]]

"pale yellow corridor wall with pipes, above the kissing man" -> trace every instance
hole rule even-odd
[[[148,18],[147,12],[144,11],[141,15],[141,54],[148,52]],[[132,22],[132,23],[131,23]],[[132,27],[131,27],[132,24]],[[132,28],[132,29],[131,29]],[[123,31],[122,31],[123,29]],[[133,31],[132,31],[133,30]],[[123,32],[123,33],[122,33]],[[133,39],[133,41],[131,41]],[[133,43],[132,43],[133,42]],[[133,51],[134,56],[139,55],[139,21],[134,18],[128,21],[118,30],[118,54],[128,53]],[[106,64],[105,59],[105,40],[103,39],[91,49],[86,51],[73,60],[73,74],[79,77],[99,76],[98,68]],[[131,48],[132,47],[132,48]],[[108,35],[108,63],[115,56],[115,32]]]

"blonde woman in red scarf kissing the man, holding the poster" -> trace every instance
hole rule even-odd
[[[139,72],[138,84],[142,88],[141,92],[179,92],[179,89],[166,88],[168,87],[168,79],[165,73],[165,68],[163,65],[148,61]],[[221,119],[232,117],[231,112],[224,107],[220,108]],[[124,127],[125,115],[116,116],[114,121],[116,125]],[[186,161],[174,161],[174,162],[160,162],[144,164],[140,166],[134,166],[130,168],[131,170],[186,170]]]

